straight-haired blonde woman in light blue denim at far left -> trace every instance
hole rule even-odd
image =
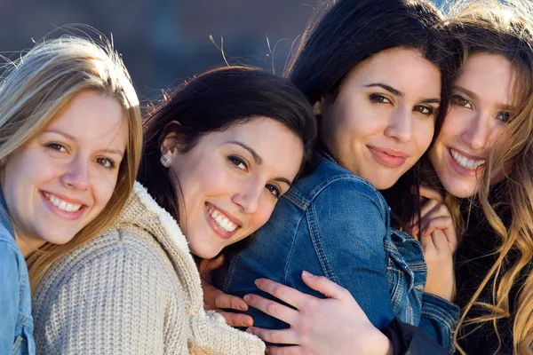
[[[76,37],[44,41],[7,68],[0,352],[35,353],[30,283],[35,288],[55,260],[115,218],[131,192],[141,142],[139,101],[111,49]]]

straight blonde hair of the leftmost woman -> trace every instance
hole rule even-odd
[[[0,161],[25,146],[83,91],[116,99],[128,122],[128,141],[114,196],[99,216],[64,245],[46,243],[28,257],[32,290],[50,266],[71,250],[91,241],[118,216],[127,200],[142,150],[139,99],[122,59],[107,41],[76,36],[37,43],[19,60],[6,64],[0,87]]]

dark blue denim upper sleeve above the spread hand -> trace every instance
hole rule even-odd
[[[310,245],[320,274],[348,289],[370,322],[386,327],[394,319],[386,276],[384,238],[389,233],[386,205],[378,192],[354,180],[337,181],[322,191],[306,212],[296,244]],[[304,251],[293,253],[290,275],[299,279]],[[311,272],[316,272],[310,270]],[[301,281],[300,281],[301,282]],[[289,282],[294,283],[294,282]]]

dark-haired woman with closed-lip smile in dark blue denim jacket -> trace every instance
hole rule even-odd
[[[308,292],[306,270],[347,288],[374,326],[397,317],[451,348],[455,233],[428,246],[442,252],[449,276],[443,288],[424,292],[423,248],[391,228],[377,191],[403,184],[398,198],[417,208],[417,162],[442,125],[450,64],[457,65],[431,29],[440,20],[423,1],[341,0],[309,28],[289,76],[321,113],[319,165],[291,187],[251,243],[229,255],[226,278],[218,276],[223,291],[256,293],[254,281],[267,278]],[[246,301],[268,311],[258,296]],[[250,314],[258,327],[286,327]]]

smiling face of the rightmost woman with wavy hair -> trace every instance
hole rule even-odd
[[[497,54],[466,59],[454,83],[449,114],[429,152],[442,185],[452,195],[465,198],[475,192],[489,149],[513,111],[515,75],[511,62]],[[504,170],[494,167],[491,182],[503,179]]]

